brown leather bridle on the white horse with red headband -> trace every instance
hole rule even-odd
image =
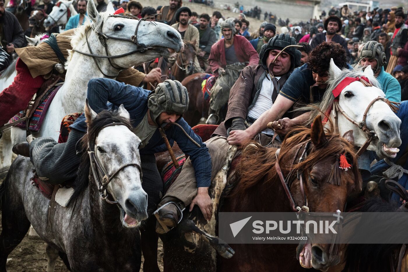
[[[340,114],[342,114],[348,121],[350,121],[351,123],[353,123],[355,126],[357,126],[359,129],[361,129],[362,131],[364,131],[367,134],[367,140],[366,142],[359,148],[359,150],[356,153],[356,156],[360,156],[364,151],[366,151],[368,145],[370,145],[370,143],[374,140],[374,139],[378,139],[377,134],[375,134],[375,131],[368,129],[367,127],[367,123],[366,123],[366,118],[367,118],[367,114],[368,111],[370,110],[370,108],[374,105],[375,102],[377,101],[384,101],[385,103],[387,103],[387,105],[391,108],[391,110],[393,110],[394,112],[396,111],[396,107],[393,104],[398,105],[399,103],[397,102],[393,102],[390,101],[388,99],[386,99],[385,97],[377,97],[375,99],[373,99],[368,106],[366,107],[366,110],[364,111],[364,115],[363,115],[363,120],[360,122],[355,121],[353,118],[351,118],[350,116],[348,116],[348,114],[346,114],[346,112],[344,112],[344,110],[340,107],[339,104],[339,100],[335,99],[335,101],[333,101],[333,114],[334,114],[334,118],[335,118],[335,129],[337,131],[339,131],[339,123],[338,123],[338,115],[337,113],[339,112]]]

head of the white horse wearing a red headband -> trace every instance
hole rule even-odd
[[[353,130],[354,145],[360,147],[358,155],[371,150],[380,158],[395,158],[401,145],[401,120],[393,112],[395,103],[385,99],[371,66],[364,72],[340,70],[331,59],[329,78],[328,91],[319,108],[329,116],[339,134]],[[310,119],[324,115],[322,112],[315,111]]]

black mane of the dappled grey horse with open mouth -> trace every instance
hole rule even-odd
[[[126,125],[126,127],[133,131],[133,126],[131,125],[131,122],[128,119],[120,116],[118,110],[114,111],[103,110],[98,114],[98,116],[96,116],[95,119],[93,119],[91,124],[88,124],[88,131],[80,140],[80,144],[82,147],[81,148],[82,157],[80,166],[77,171],[77,177],[75,178],[75,191],[69,200],[70,203],[71,200],[78,197],[78,195],[89,184],[89,168],[91,167],[91,162],[89,161],[89,156],[87,152],[88,142],[95,143],[96,137],[98,136],[99,132],[103,129],[105,125],[111,123],[123,123],[124,125]]]

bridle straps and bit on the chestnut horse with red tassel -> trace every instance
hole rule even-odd
[[[306,142],[306,145],[304,146],[302,155],[300,156],[298,163],[300,163],[300,162],[302,162],[302,161],[304,161],[306,159],[306,157],[308,156],[308,151],[310,150],[310,145],[311,145],[311,141]],[[303,144],[301,144],[299,146],[299,148],[297,149],[296,156],[293,159],[292,164],[295,163],[296,158],[299,155],[299,151],[302,148],[302,146],[303,146]],[[276,169],[277,174],[279,176],[279,180],[282,183],[282,187],[285,190],[286,196],[288,197],[288,200],[290,202],[290,208],[292,209],[292,211],[297,213],[297,218],[300,220],[304,214],[307,214],[308,216],[318,216],[318,217],[326,217],[326,216],[327,217],[336,217],[337,221],[336,221],[334,226],[335,226],[335,228],[337,228],[338,225],[340,224],[340,218],[341,219],[343,218],[342,216],[340,216],[340,214],[341,214],[340,210],[336,210],[336,213],[320,213],[319,212],[316,215],[313,215],[313,214],[309,213],[310,209],[308,207],[307,195],[306,195],[306,192],[305,192],[303,171],[300,171],[300,170],[297,170],[297,179],[299,180],[300,193],[302,195],[303,200],[302,200],[302,205],[298,206],[296,204],[292,193],[290,193],[290,185],[291,185],[291,182],[290,182],[290,179],[289,179],[290,175],[288,175],[288,177],[285,179],[285,177],[284,177],[284,175],[282,173],[282,169],[279,166],[279,160],[278,160],[279,151],[280,151],[280,148],[277,149],[277,151],[275,152],[275,157],[276,157],[275,169]],[[339,251],[339,244],[337,243],[338,239],[339,239],[338,235],[334,234],[333,238],[332,238],[332,243],[330,243],[330,249],[329,249],[330,254],[335,254],[335,255],[338,254],[338,251]],[[299,243],[299,245],[304,245],[304,243]]]

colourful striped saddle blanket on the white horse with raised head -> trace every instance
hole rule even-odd
[[[45,114],[47,114],[47,110],[49,105],[51,105],[52,99],[55,97],[55,94],[58,92],[58,90],[61,88],[61,86],[58,86],[56,88],[51,88],[50,90],[47,91],[47,94],[45,94],[42,97],[42,101],[40,101],[38,107],[34,110],[33,114],[31,115],[29,119],[29,131],[32,132],[38,132],[41,128],[42,121],[44,121]],[[13,123],[15,121],[20,120],[26,116],[25,111],[19,112],[13,118],[10,119],[9,123]],[[19,124],[17,124],[17,127],[21,127],[23,129],[26,129],[27,127],[27,121],[23,121]]]

